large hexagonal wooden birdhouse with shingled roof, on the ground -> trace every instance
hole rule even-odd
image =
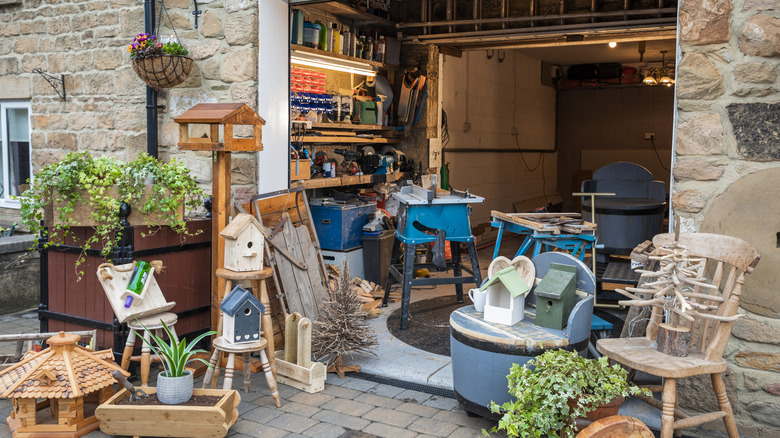
[[[78,437],[100,426],[95,409],[114,395],[111,372],[130,373],[113,363],[111,350],[88,350],[79,339],[60,332],[49,348],[0,373],[0,396],[13,402],[6,420],[14,437]]]

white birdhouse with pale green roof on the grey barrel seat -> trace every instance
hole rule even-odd
[[[525,294],[531,288],[514,266],[498,271],[480,289],[487,290],[485,321],[514,325],[523,320]]]

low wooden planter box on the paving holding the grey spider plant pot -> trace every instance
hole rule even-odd
[[[157,388],[144,388],[154,394]],[[109,435],[164,437],[224,437],[238,420],[241,396],[234,390],[195,388],[193,395],[218,395],[222,399],[214,406],[178,405],[117,405],[130,398],[123,389],[98,406],[95,416],[100,430]]]

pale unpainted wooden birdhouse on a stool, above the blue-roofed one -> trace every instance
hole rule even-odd
[[[225,269],[259,271],[263,269],[263,245],[260,222],[251,214],[239,213],[219,235],[225,238]]]

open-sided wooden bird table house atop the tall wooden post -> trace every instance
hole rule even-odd
[[[173,121],[179,124],[179,149],[218,152],[263,150],[265,120],[244,103],[200,103]],[[209,132],[205,138],[190,137],[191,124],[208,125]],[[253,137],[233,137],[236,125],[252,126]],[[220,137],[222,141],[219,141]]]

